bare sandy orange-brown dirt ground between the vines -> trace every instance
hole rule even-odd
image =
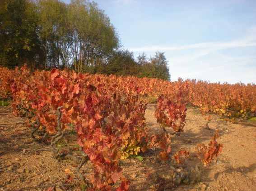
[[[168,175],[173,167],[181,167],[172,159],[162,163],[157,158],[158,151],[151,150],[140,154],[143,160],[132,157],[120,161],[124,175],[131,181],[131,191],[256,191],[256,127],[232,124],[214,115],[209,123],[211,130],[207,130],[202,128],[205,120],[196,108],[188,109],[186,122],[184,133],[172,136],[171,154],[189,150],[191,157],[183,169],[198,166],[200,173],[194,176],[200,176],[200,181],[173,186]],[[146,123],[150,133],[163,131],[154,118],[154,105],[146,111]],[[196,144],[207,145],[215,130],[219,130],[217,141],[223,143],[223,151],[210,167],[204,167],[196,157]],[[54,187],[56,191],[80,190],[75,174],[74,182],[65,182],[65,169],[75,172],[77,165],[51,158],[49,145],[33,142],[29,133],[25,118],[14,116],[10,107],[0,107],[0,191],[47,191]],[[60,147],[68,144],[62,142]],[[81,172],[90,171],[87,162]]]

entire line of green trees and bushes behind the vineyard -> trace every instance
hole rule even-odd
[[[147,58],[121,49],[115,27],[87,0],[0,0],[0,65],[170,80],[163,52]]]

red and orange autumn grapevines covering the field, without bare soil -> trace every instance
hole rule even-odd
[[[54,158],[64,157],[78,163],[77,174],[88,190],[128,190],[130,181],[122,175],[118,160],[130,155],[158,147],[159,159],[168,161],[171,136],[183,132],[188,103],[200,107],[204,115],[213,112],[226,117],[256,116],[254,84],[169,82],[58,69],[31,72],[26,66],[0,70],[0,97],[12,98],[14,113],[28,118],[32,138],[35,139],[37,131],[51,138]],[[149,136],[144,118],[149,102],[157,102],[155,117],[163,133]],[[72,125],[83,151],[80,157],[56,147]],[[173,132],[166,127],[172,127]],[[206,166],[223,147],[216,138],[217,134],[209,146],[197,145],[198,157]],[[188,157],[189,151],[183,150],[174,155],[178,164]],[[93,164],[90,182],[79,171],[86,160]]]

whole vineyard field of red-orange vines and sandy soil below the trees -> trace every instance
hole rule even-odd
[[[1,190],[256,189],[255,84],[0,71]]]

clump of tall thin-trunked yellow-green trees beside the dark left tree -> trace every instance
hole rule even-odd
[[[72,67],[95,73],[119,47],[113,25],[94,2],[39,0],[39,36],[45,67]]]

